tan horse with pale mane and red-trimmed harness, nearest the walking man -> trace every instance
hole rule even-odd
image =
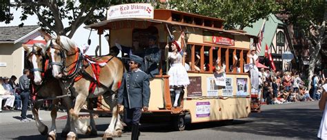
[[[119,89],[124,66],[123,63],[113,56],[98,57],[91,60],[84,56],[75,43],[68,37],[60,36],[50,39],[47,45],[47,54],[50,57],[53,77],[61,79],[61,89],[71,92],[76,97],[75,107],[70,110],[70,132],[68,139],[76,139],[77,128],[85,133],[87,126],[78,119],[81,106],[88,98],[103,95],[106,103],[112,111],[112,119],[103,138],[120,137],[123,125],[118,114],[117,90]],[[91,92],[90,92],[91,91]]]

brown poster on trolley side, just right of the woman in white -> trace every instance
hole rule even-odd
[[[201,77],[188,77],[190,85],[188,85],[188,97],[201,97]]]

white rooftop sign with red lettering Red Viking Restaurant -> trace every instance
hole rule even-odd
[[[128,3],[110,6],[107,12],[107,20],[112,19],[153,19],[154,8],[150,3]]]

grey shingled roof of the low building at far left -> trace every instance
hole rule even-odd
[[[41,29],[40,26],[23,26],[21,28],[18,26],[0,27],[0,42],[15,42],[39,29]]]

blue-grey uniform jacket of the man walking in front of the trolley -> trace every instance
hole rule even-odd
[[[148,74],[141,70],[125,72],[118,90],[118,103],[124,108],[149,106],[150,88]]]

